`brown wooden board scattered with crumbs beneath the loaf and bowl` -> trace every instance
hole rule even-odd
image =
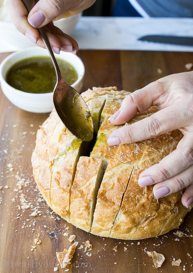
[[[9,53],[0,54],[0,62]],[[187,71],[193,63],[192,53],[80,50],[77,54],[85,65],[83,91],[93,86],[117,86],[133,92],[146,84],[172,73]],[[153,273],[193,272],[192,215],[189,212],[176,230],[158,238],[116,240],[88,234],[58,217],[46,205],[33,180],[31,153],[36,132],[49,114],[25,112],[13,106],[0,92],[0,272],[43,273]],[[26,209],[22,209],[29,207]],[[31,216],[33,211],[37,216]],[[67,233],[68,236],[63,234]],[[35,244],[38,237],[40,244]],[[76,236],[78,247],[88,240],[91,250],[76,249],[71,264],[61,269],[56,252],[69,248],[70,235]],[[140,243],[138,243],[140,242]],[[117,251],[113,248],[117,246]],[[35,247],[35,248],[33,248]],[[146,251],[165,256],[155,268]],[[172,266],[173,259],[180,266]]]

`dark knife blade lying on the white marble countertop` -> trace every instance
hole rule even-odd
[[[168,43],[181,46],[193,46],[193,37],[171,36],[171,35],[146,35],[138,38],[139,41],[154,43]]]

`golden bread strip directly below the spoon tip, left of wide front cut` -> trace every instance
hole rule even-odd
[[[89,232],[96,205],[96,197],[102,181],[101,159],[80,157],[70,197],[70,222]]]

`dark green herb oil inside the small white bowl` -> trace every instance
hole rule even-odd
[[[63,80],[71,85],[78,75],[75,68],[57,59]],[[56,84],[56,72],[50,57],[32,57],[16,63],[7,73],[7,83],[28,93],[50,93]]]

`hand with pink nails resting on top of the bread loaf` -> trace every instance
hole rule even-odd
[[[193,203],[193,71],[161,78],[128,95],[120,110],[110,121],[124,124],[135,116],[156,106],[160,111],[150,117],[115,130],[108,145],[134,143],[179,129],[184,137],[176,150],[140,174],[141,187],[154,185],[156,198],[185,189],[182,204]]]

